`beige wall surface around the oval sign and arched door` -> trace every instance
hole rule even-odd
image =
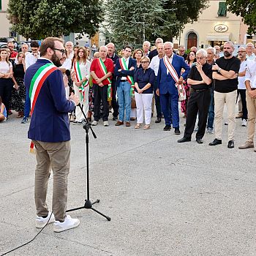
[[[229,37],[229,39],[237,44],[245,44],[245,35],[247,26],[241,21],[240,16],[236,16],[230,12],[227,12],[227,17],[218,17],[217,12],[219,9],[219,1],[209,1],[209,7],[203,10],[200,14],[197,22],[187,24],[184,31],[181,33],[180,38],[176,38],[174,42],[180,42],[181,45],[185,45],[187,48],[187,36],[189,32],[197,34],[197,48],[201,45],[205,48],[209,45],[208,38],[212,37]],[[228,27],[228,30],[224,33],[214,31],[214,26],[218,24],[224,24]]]

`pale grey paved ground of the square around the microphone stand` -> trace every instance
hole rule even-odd
[[[15,114],[0,124],[0,255],[38,232],[28,127]],[[182,135],[163,127],[154,118],[147,131],[99,122],[97,139],[90,135],[90,195],[101,200],[94,207],[112,220],[91,210],[73,211],[79,227],[53,233],[48,225],[9,255],[256,255],[256,153],[238,149],[246,139],[241,121],[233,149],[227,148],[226,126],[223,144],[215,147],[208,146],[214,135],[205,135],[202,145],[195,137],[179,144]],[[83,206],[86,198],[84,130],[72,125],[71,132],[68,208]],[[49,206],[51,192],[52,180]]]

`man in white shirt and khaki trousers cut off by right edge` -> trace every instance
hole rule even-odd
[[[255,117],[256,117],[256,59],[247,60],[245,73],[246,106],[248,110],[247,140],[239,149],[254,148]],[[254,149],[256,152],[256,148]]]

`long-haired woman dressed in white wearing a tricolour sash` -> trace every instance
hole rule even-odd
[[[86,48],[78,48],[78,57],[75,59],[72,68],[72,80],[74,85],[75,94],[80,99],[80,105],[83,112],[88,114],[89,111],[89,79],[91,62],[87,59],[88,52]],[[76,121],[73,124],[84,124],[86,122],[82,111],[79,107],[75,108]]]

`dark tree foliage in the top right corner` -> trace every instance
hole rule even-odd
[[[243,21],[249,26],[248,34],[256,34],[256,2],[255,0],[227,0],[227,9],[241,15]]]

